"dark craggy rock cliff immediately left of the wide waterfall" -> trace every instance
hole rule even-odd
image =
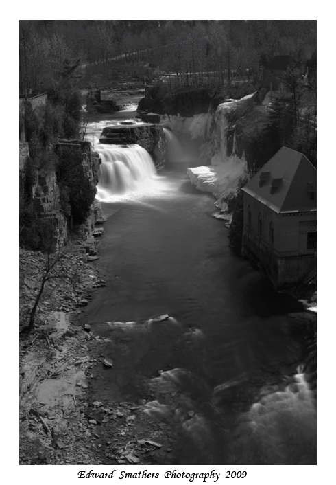
[[[94,200],[100,159],[97,153],[91,151],[90,143],[79,140],[60,141],[49,151],[49,158],[54,163],[36,167],[25,155],[20,174],[25,203],[31,204],[34,220],[37,217],[47,232],[52,234],[52,245],[56,249],[67,243],[69,233],[73,230],[80,239],[91,235],[97,218],[101,218]],[[62,170],[62,160],[67,162],[67,170]],[[93,196],[91,201],[86,201],[88,210],[83,220],[76,223],[75,203],[82,203],[82,187],[79,185],[91,189],[89,192]]]

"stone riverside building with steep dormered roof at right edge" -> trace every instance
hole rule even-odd
[[[302,153],[283,147],[242,189],[242,256],[258,261],[276,289],[315,272],[316,174]]]

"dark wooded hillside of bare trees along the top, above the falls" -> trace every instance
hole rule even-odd
[[[21,21],[20,91],[47,89],[65,59],[90,65],[87,81],[160,71],[181,84],[221,85],[259,79],[274,55],[304,65],[315,49],[316,21]]]

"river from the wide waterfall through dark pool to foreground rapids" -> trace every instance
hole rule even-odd
[[[300,370],[281,384],[302,357],[286,313],[302,306],[235,256],[184,174],[155,174],[140,147],[96,148],[107,286],[88,322],[114,367],[97,366],[94,392],[154,396],[146,413],[180,426],[180,464],[314,464],[315,396]]]

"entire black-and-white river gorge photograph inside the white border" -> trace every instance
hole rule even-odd
[[[317,21],[21,20],[19,91],[19,463],[316,465]]]

